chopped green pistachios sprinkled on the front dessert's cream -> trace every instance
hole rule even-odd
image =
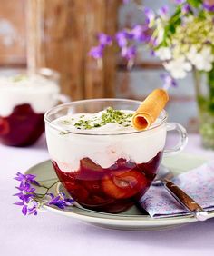
[[[132,113],[123,113],[120,110],[114,110],[108,107],[101,115],[101,117],[94,116],[92,119],[86,119],[85,115],[81,115],[74,126],[77,129],[89,130],[92,128],[99,128],[107,123],[118,123],[123,127],[131,127]]]

